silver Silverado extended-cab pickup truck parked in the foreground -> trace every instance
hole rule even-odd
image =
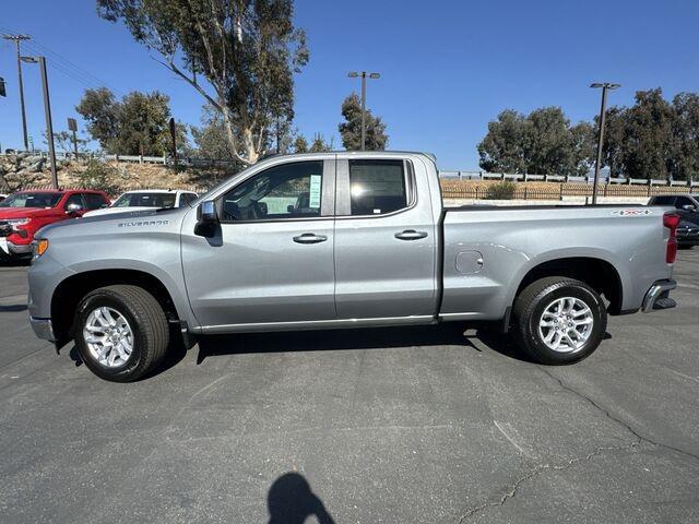
[[[36,334],[97,376],[153,370],[178,329],[213,333],[491,321],[530,358],[589,356],[609,314],[673,307],[663,207],[445,207],[435,159],[264,159],[183,209],[37,235]]]

